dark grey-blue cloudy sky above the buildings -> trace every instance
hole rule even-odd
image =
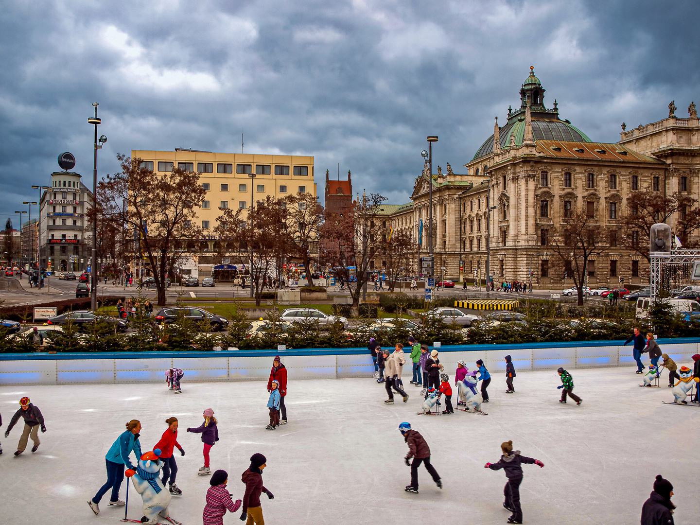
[[[407,202],[428,134],[455,172],[501,125],[529,66],[596,141],[700,104],[697,1],[0,0],[0,217],[71,151],[314,155]],[[434,167],[434,169],[436,169]],[[35,208],[35,207],[34,207]],[[36,208],[35,208],[36,209]],[[35,211],[35,209],[33,211]],[[36,211],[35,211],[36,213]],[[25,216],[26,218],[26,216]],[[15,224],[17,221],[15,221]]]

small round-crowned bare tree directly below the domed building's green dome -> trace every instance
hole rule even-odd
[[[607,230],[589,218],[585,211],[563,218],[561,225],[552,232],[549,246],[554,250],[555,264],[552,270],[566,272],[573,278],[578,304],[583,305],[583,287],[586,283],[589,261],[608,248]]]

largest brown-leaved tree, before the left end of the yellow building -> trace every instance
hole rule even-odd
[[[99,208],[107,217],[120,218],[133,235],[130,250],[153,272],[158,305],[165,306],[167,272],[183,256],[186,246],[196,246],[191,239],[202,233],[194,221],[195,209],[202,206],[206,190],[198,173],[174,168],[170,173],[156,174],[139,158],[117,158],[122,171],[99,183]]]

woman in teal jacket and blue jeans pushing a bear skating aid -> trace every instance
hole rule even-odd
[[[109,498],[110,507],[123,507],[125,502],[119,499],[119,489],[124,481],[124,466],[130,470],[136,470],[129,459],[129,454],[134,452],[137,458],[137,464],[141,457],[141,442],[139,442],[139,432],[141,432],[141,422],[138,419],[132,419],[126,423],[127,429],[119,435],[117,440],[109,447],[105,458],[107,465],[107,482],[102,485],[92,499],[87,501],[92,512],[99,514],[99,502],[102,496],[112,489],[112,497]]]

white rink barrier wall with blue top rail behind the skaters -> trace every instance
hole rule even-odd
[[[700,338],[657,339],[661,351],[678,364],[692,368],[692,356],[700,353]],[[505,374],[505,356],[510,355],[517,372],[567,370],[594,367],[634,366],[632,345],[624,341],[566,343],[458,344],[442,346],[440,362],[450,377],[458,360],[473,370],[484,360],[491,375]],[[432,350],[433,347],[431,346]],[[2,353],[0,385],[144,383],[165,381],[165,370],[181,368],[183,381],[267,380],[272,358],[280,354],[291,379],[339,379],[371,377],[372,357],[366,348],[243,350],[214,352],[124,352],[124,353]],[[405,352],[402,377],[410,381],[412,363]],[[643,354],[648,364],[648,354]]]

